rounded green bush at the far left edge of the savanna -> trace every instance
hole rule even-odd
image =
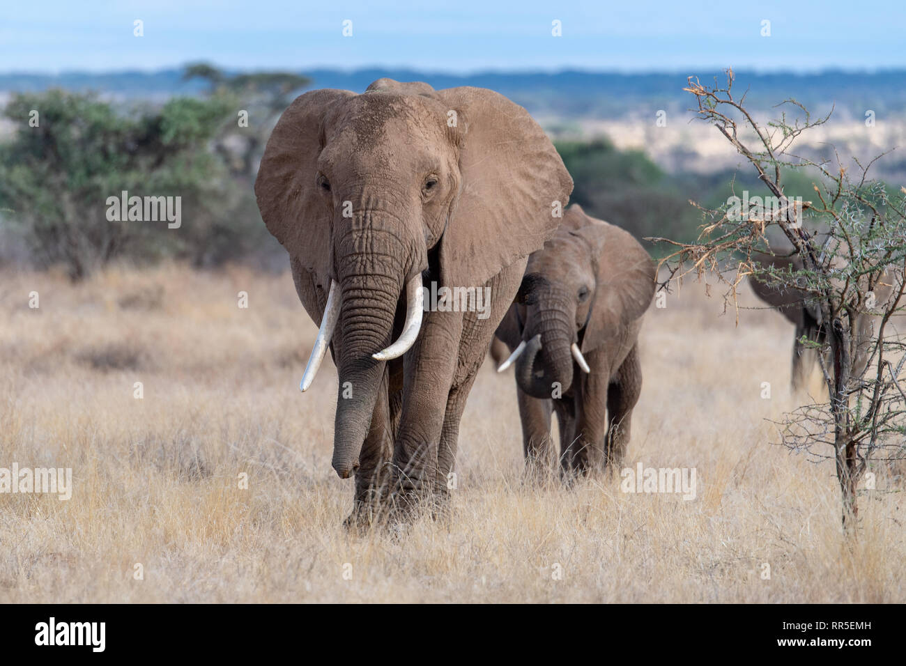
[[[0,145],[4,224],[21,233],[39,265],[62,264],[72,280],[119,256],[185,254],[188,238],[229,207],[226,169],[207,150],[229,111],[217,99],[128,111],[94,94],[15,95],[4,111],[14,134]],[[108,221],[107,198],[122,190],[181,197],[190,226]]]

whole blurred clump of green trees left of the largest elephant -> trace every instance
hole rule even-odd
[[[14,131],[0,144],[2,245],[23,246],[37,267],[62,265],[72,280],[124,259],[167,256],[204,267],[265,265],[277,255],[252,185],[277,116],[308,80],[226,76],[204,64],[185,76],[206,82],[207,93],[159,107],[118,105],[91,92],[14,95],[4,110]],[[111,221],[108,200],[122,192],[178,197],[186,224]],[[0,251],[0,262],[8,255]]]

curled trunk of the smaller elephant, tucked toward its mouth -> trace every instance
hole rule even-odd
[[[572,317],[569,308],[560,306],[529,312],[528,319],[535,325],[526,329],[529,342],[516,362],[516,382],[528,395],[551,398],[573,385]]]

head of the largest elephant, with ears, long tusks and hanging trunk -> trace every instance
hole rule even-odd
[[[321,329],[303,391],[333,348],[341,478],[358,465],[387,362],[419,335],[422,276],[484,285],[554,233],[552,202],[571,190],[544,131],[496,92],[381,79],[362,94],[306,92],[284,111],[255,195],[297,287],[310,281],[297,290]]]

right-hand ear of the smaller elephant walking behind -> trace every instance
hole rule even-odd
[[[620,227],[593,220],[576,233],[593,247],[597,281],[582,339],[582,352],[586,353],[645,314],[654,296],[656,271],[651,255]]]

